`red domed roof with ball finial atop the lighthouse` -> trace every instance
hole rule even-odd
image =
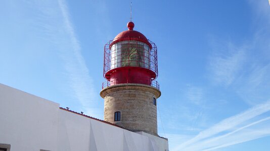
[[[138,31],[134,31],[133,27],[134,27],[134,23],[128,22],[127,23],[128,30],[123,31],[123,32],[119,33],[117,36],[115,36],[115,38],[113,39],[113,42],[110,44],[110,47],[119,41],[137,40],[137,41],[141,41],[141,42],[148,44],[150,46],[150,48],[152,48],[152,45],[149,43],[149,41],[145,37],[145,35],[143,35],[142,33],[138,32]]]

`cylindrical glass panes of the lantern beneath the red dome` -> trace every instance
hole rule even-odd
[[[141,41],[120,41],[111,46],[111,69],[124,66],[149,68],[149,46]]]

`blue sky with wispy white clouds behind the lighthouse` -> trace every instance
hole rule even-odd
[[[103,119],[104,45],[130,1],[1,1],[0,83]],[[158,132],[170,150],[270,150],[270,6],[133,1],[158,47]],[[162,122],[161,122],[162,121]]]

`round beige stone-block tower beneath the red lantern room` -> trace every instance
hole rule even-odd
[[[153,104],[153,98],[160,95],[158,89],[142,84],[107,87],[100,92],[104,98],[104,120],[131,131],[157,135],[157,106]],[[121,113],[120,121],[114,121],[117,111]]]

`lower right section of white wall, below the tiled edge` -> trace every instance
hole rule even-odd
[[[59,115],[58,150],[168,150],[167,140],[154,135],[148,137],[65,110]]]

